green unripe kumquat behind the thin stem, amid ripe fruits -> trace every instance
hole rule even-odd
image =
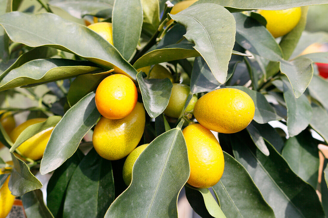
[[[174,83],[172,87],[172,93],[169,100],[169,104],[164,110],[164,114],[169,117],[179,118],[183,106],[188,98],[189,92],[190,92],[190,87],[188,85]],[[196,101],[197,101],[197,96],[193,95],[185,112],[192,111]]]

